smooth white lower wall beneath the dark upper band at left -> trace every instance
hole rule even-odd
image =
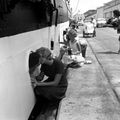
[[[58,30],[58,32],[56,31]],[[54,32],[57,34],[52,37]],[[0,38],[0,120],[27,120],[35,99],[28,73],[31,50],[50,47],[58,54],[59,25]]]

